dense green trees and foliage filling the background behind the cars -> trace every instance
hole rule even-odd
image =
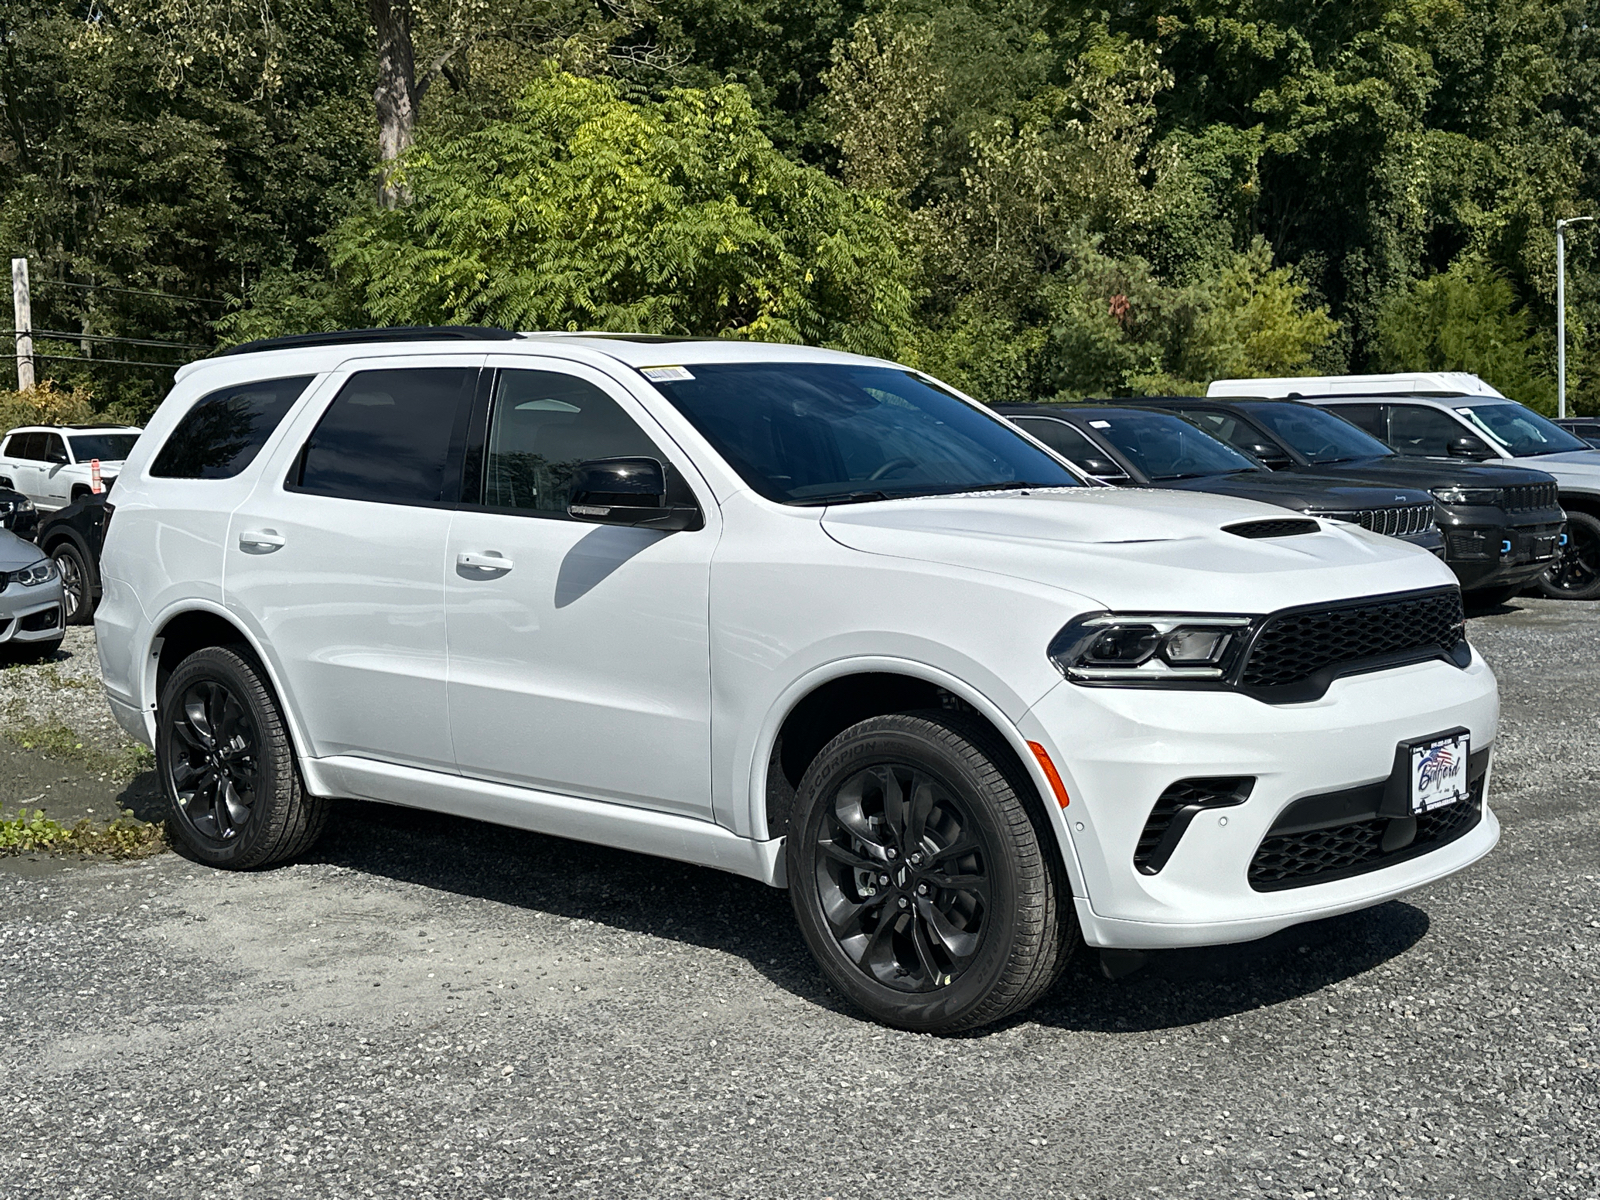
[[[397,11],[386,208],[376,3],[0,0],[0,242],[75,334],[45,374],[138,413],[163,373],[83,355],[194,350],[93,338],[494,322],[848,346],[992,400],[1430,366],[1554,402],[1597,0]],[[1597,248],[1573,230],[1579,411]]]

